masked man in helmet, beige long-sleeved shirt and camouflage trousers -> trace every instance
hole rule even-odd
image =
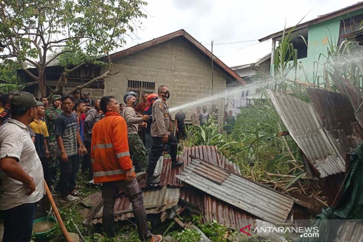
[[[138,135],[138,125],[146,127],[145,121],[148,115],[138,117],[135,112],[136,98],[129,95],[125,99],[126,107],[122,110],[122,117],[127,124],[127,139],[129,141],[130,157],[132,164],[135,166],[135,172],[140,172],[142,168],[147,167],[148,157],[144,144]]]

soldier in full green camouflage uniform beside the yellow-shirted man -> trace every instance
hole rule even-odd
[[[55,135],[56,119],[62,113],[61,110],[61,95],[53,95],[52,103],[45,109],[45,123],[48,128],[48,149],[49,149],[49,172],[52,180],[57,181],[58,160],[56,155],[57,138]]]

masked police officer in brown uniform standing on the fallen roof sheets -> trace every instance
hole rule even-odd
[[[168,144],[170,147],[171,156],[171,168],[175,169],[183,165],[183,161],[176,160],[176,152],[178,149],[178,141],[176,141],[174,135],[170,133],[170,112],[169,107],[166,104],[166,100],[170,97],[169,88],[167,86],[159,86],[158,88],[159,98],[152,104],[152,123],[151,123],[151,136],[152,136],[152,148],[149,159],[149,165],[147,167],[147,183],[149,185],[156,185],[159,182],[153,179],[152,174],[156,163],[163,153],[163,143]]]

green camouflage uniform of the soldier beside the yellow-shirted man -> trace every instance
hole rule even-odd
[[[58,117],[58,115],[60,115],[62,112],[61,109],[57,109],[56,106],[54,105],[50,105],[46,110],[45,110],[45,123],[47,124],[48,127],[48,133],[49,133],[49,138],[48,138],[48,150],[50,153],[50,157],[49,157],[49,169],[53,169],[56,166],[56,164],[58,163],[58,159],[56,156],[56,147],[57,147],[57,138],[56,135],[54,134],[54,129],[55,129],[55,125],[56,125],[56,119]],[[54,172],[53,172],[54,173]],[[54,179],[54,174],[52,174],[52,178]]]

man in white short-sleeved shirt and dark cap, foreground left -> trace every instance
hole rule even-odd
[[[11,116],[0,127],[0,210],[3,242],[30,241],[36,204],[44,194],[43,169],[28,126],[35,117],[32,94],[11,99]]]

